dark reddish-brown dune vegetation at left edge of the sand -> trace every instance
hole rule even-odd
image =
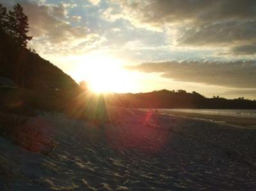
[[[48,154],[56,143],[49,133],[49,126],[40,118],[14,114],[0,114],[0,136],[22,148]]]

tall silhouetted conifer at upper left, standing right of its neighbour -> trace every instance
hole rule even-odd
[[[28,36],[28,17],[24,14],[21,4],[17,3],[13,7],[13,11],[9,11],[8,15],[9,30],[7,33],[13,38],[16,43],[26,47],[28,40],[32,36]]]

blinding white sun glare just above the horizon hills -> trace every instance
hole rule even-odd
[[[136,88],[131,72],[123,68],[124,62],[114,56],[93,53],[81,60],[76,76],[87,82],[95,93],[125,93]]]

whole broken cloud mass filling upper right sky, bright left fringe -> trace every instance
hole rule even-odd
[[[167,31],[177,46],[223,47],[229,54],[242,54],[235,47],[256,43],[254,0],[110,0],[120,10],[108,9],[108,20],[127,19],[137,27]],[[169,32],[168,32],[169,31]],[[253,46],[250,47],[253,49]],[[255,54],[256,49],[246,54]]]

